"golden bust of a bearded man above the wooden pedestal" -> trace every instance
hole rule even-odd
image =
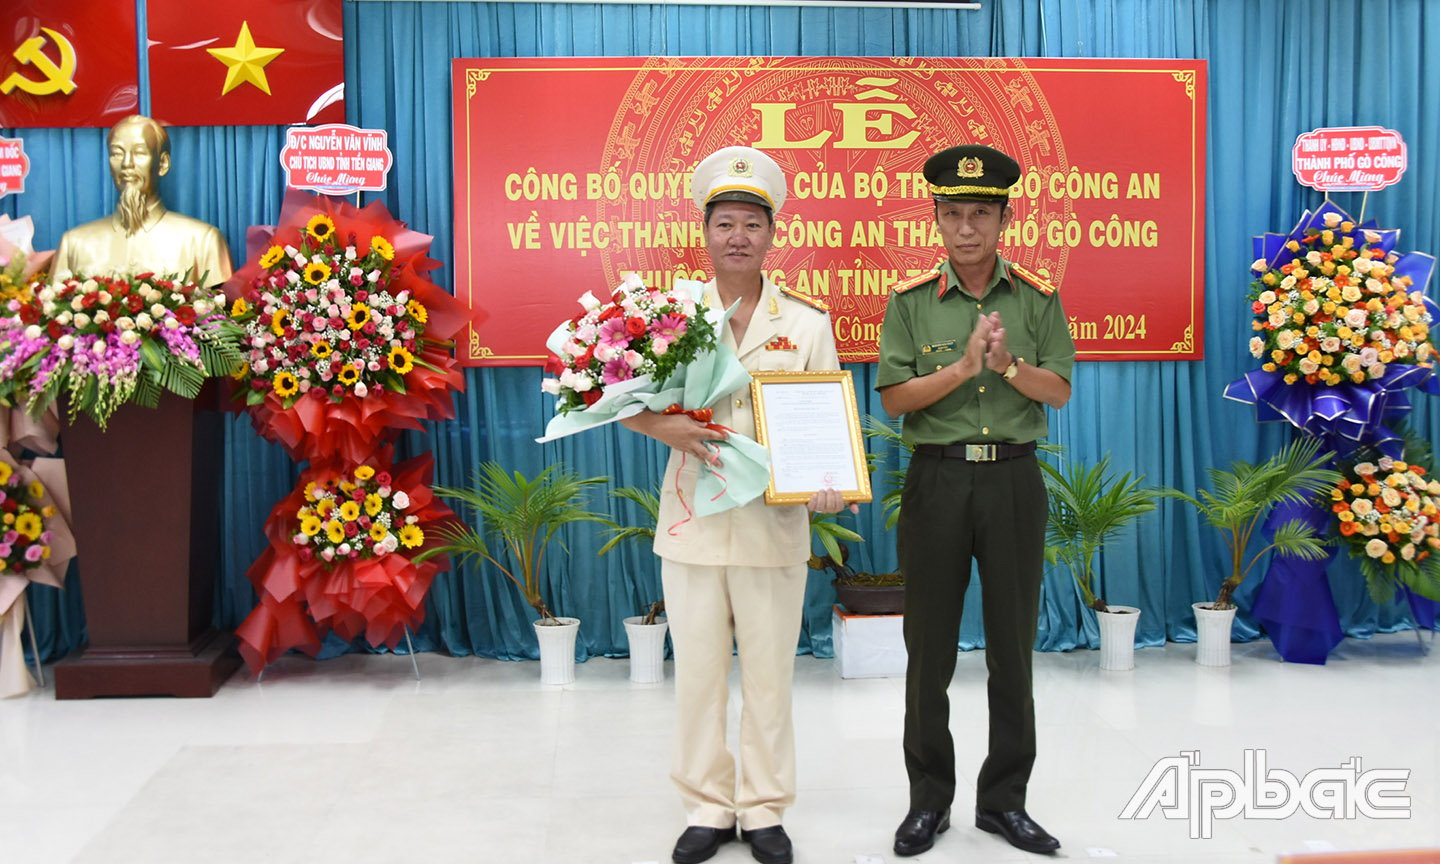
[[[115,212],[65,232],[50,272],[63,275],[174,275],[219,285],[230,278],[230,251],[213,225],[167,210],[160,177],[170,170],[170,135],[132,114],[109,130]]]

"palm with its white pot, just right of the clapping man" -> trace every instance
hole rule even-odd
[[[1112,537],[1140,516],[1155,510],[1155,490],[1142,487],[1143,477],[1110,474],[1110,456],[1094,465],[1070,461],[1057,468],[1041,461],[1050,492],[1047,552],[1070,570],[1084,605],[1100,624],[1100,668],[1135,668],[1138,606],[1110,606],[1096,590],[1096,556]]]

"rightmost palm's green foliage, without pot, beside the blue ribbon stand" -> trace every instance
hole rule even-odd
[[[1299,438],[1286,445],[1259,465],[1233,462],[1228,469],[1211,468],[1210,485],[1214,491],[1200,490],[1198,497],[1179,490],[1159,490],[1166,498],[1179,498],[1194,507],[1200,516],[1220,530],[1230,552],[1230,575],[1220,585],[1215,609],[1230,609],[1230,598],[1240,583],[1254,569],[1266,553],[1302,560],[1325,557],[1326,540],[1302,520],[1289,520],[1274,530],[1274,539],[1260,552],[1246,560],[1250,540],[1266,514],[1277,504],[1305,504],[1319,495],[1329,495],[1339,482],[1338,471],[1328,468],[1333,454],[1320,454],[1320,442],[1315,438]]]

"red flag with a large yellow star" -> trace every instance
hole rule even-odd
[[[171,125],[344,122],[341,0],[148,0],[150,105]]]

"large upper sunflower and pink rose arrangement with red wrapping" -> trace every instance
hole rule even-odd
[[[245,330],[236,377],[256,429],[295,459],[363,462],[399,429],[452,416],[451,353],[474,315],[425,278],[431,238],[380,203],[294,193],[252,229],[252,262],[228,284]]]

